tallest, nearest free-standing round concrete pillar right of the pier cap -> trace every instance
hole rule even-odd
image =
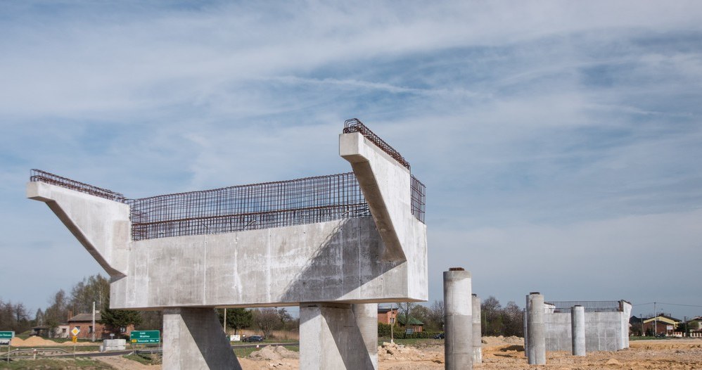
[[[461,267],[444,272],[444,355],[446,370],[473,369],[471,273]]]

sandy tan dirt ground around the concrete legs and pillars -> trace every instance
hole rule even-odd
[[[568,352],[547,352],[547,364],[530,366],[524,356],[522,338],[483,338],[483,364],[475,369],[554,369],[554,370],[692,370],[702,369],[702,339],[639,340],[630,348],[616,352],[591,352],[585,357],[573,357]],[[265,349],[265,348],[264,348]],[[270,349],[266,353],[282,350]],[[266,358],[269,357],[269,358]],[[270,358],[274,357],[274,358]],[[117,369],[160,369],[160,366],[128,365],[126,362],[106,362]],[[120,361],[120,360],[117,360]],[[128,361],[128,360],[127,360]],[[239,359],[243,370],[299,369],[297,358],[277,355],[255,355]],[[384,345],[378,350],[380,370],[444,369],[444,347],[440,343],[420,347]]]

